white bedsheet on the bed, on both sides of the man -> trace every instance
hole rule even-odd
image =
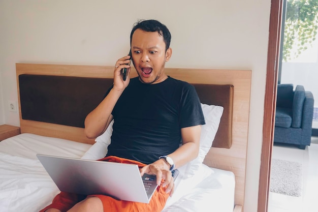
[[[80,158],[90,146],[34,134],[0,142],[0,212],[39,211],[59,193],[36,154]],[[205,165],[199,174],[195,180],[177,178],[176,191],[163,212],[233,211],[234,174]]]

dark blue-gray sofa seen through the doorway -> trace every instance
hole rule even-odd
[[[313,96],[304,86],[278,84],[274,143],[296,144],[305,149],[310,145]]]

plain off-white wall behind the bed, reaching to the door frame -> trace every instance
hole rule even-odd
[[[0,123],[19,125],[7,106],[17,101],[15,63],[114,65],[137,19],[160,20],[172,34],[167,67],[252,70],[245,211],[255,212],[269,15],[270,0],[0,0]]]

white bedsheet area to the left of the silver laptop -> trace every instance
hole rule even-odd
[[[37,154],[80,158],[90,146],[27,133],[1,141],[0,211],[39,211],[59,193]]]

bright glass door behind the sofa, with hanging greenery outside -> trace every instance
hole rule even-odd
[[[285,0],[284,5],[278,83],[312,92],[312,132],[318,136],[318,1]]]

